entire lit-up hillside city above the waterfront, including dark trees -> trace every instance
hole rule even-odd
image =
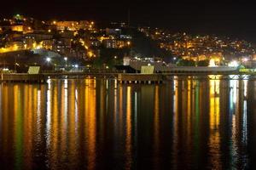
[[[120,65],[256,65],[256,46],[245,40],[192,35],[123,22],[36,20],[21,14],[0,21],[2,71],[116,69]]]

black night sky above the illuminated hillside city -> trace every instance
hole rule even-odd
[[[20,3],[22,2],[22,3]],[[158,26],[172,31],[211,33],[256,42],[256,2],[245,1],[99,1],[10,0],[0,14],[26,14],[38,19],[126,21],[131,25]]]

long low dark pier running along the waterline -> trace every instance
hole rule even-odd
[[[208,77],[210,76],[211,77]],[[117,79],[119,83],[141,83],[141,84],[158,84],[165,81],[173,80],[176,77],[201,78],[209,79],[255,79],[256,73],[228,73],[228,72],[169,72],[169,73],[93,73],[93,72],[67,72],[67,73],[1,73],[0,82],[28,82],[28,83],[45,83],[48,79],[84,79],[84,78],[104,78]]]

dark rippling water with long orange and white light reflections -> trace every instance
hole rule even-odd
[[[255,169],[256,82],[0,85],[0,169]]]

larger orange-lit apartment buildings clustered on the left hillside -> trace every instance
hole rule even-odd
[[[0,54],[47,49],[63,57],[95,58],[101,48],[129,48],[124,24],[98,28],[94,21],[35,20],[16,14],[0,20]]]

